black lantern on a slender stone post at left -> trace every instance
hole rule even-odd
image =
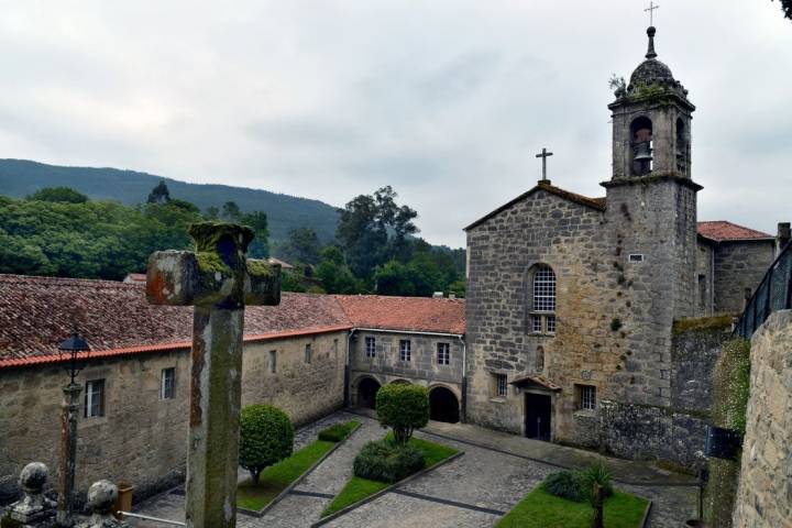
[[[59,527],[74,525],[72,512],[74,509],[74,482],[77,458],[77,411],[79,410],[79,395],[82,387],[75,383],[79,366],[80,353],[90,353],[90,346],[82,337],[74,331],[72,336],[58,345],[58,358],[68,362],[66,372],[69,383],[63,389],[64,400],[61,414],[61,472],[58,475],[58,508],[56,522]]]

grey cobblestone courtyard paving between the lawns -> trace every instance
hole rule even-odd
[[[302,528],[317,520],[331,496],[341,490],[351,475],[352,460],[361,446],[381,438],[384,431],[371,418],[337,413],[300,429],[296,435],[295,448],[299,449],[312,441],[319,429],[353,417],[360,419],[363,426],[311,472],[295,488],[295,493],[285,497],[263,518],[238,515],[238,526]],[[429,522],[431,528],[492,527],[503,513],[517,504],[548,473],[557,471],[554,464],[559,460],[579,462],[597,457],[595,453],[543,442],[526,443],[524,441],[527,439],[508,435],[502,437],[503,433],[472,426],[430,422],[426,431],[416,435],[454,447],[465,454],[326,526],[402,528],[420,527]],[[442,438],[437,435],[442,435]],[[451,440],[451,437],[460,441]],[[536,460],[536,454],[548,457],[552,464]],[[607,462],[612,460],[607,459]],[[653,501],[650,526],[684,526],[684,520],[695,512],[696,488],[679,484],[689,483],[690,480],[667,475],[667,472],[648,464],[623,462],[617,461],[616,474],[630,484],[618,484],[618,487]],[[676,485],[663,485],[667,483]],[[173,492],[163,494],[141,504],[135,510],[183,520],[184,496]],[[165,525],[139,522],[134,526],[160,528]]]

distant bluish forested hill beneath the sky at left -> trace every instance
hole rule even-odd
[[[244,212],[266,212],[270,238],[275,242],[286,240],[290,230],[304,227],[314,229],[321,242],[329,242],[336,234],[338,212],[319,200],[228,185],[188,184],[118,168],[63,167],[26,160],[0,160],[0,195],[14,198],[23,198],[42,187],[70,187],[92,199],[134,205],[145,202],[148,193],[161,180],[167,184],[172,197],[193,202],[201,210],[233,201]]]

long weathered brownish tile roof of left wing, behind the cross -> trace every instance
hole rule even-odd
[[[94,351],[163,350],[189,346],[193,309],[148,305],[141,284],[0,275],[0,361],[57,354],[75,322]],[[331,296],[283,294],[245,311],[246,340],[349,328]]]

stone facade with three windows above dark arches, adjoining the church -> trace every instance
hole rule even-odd
[[[360,403],[359,388],[365,378],[380,385],[408,382],[429,387],[444,387],[462,405],[464,345],[461,336],[421,334],[397,331],[355,330],[350,342],[350,396]],[[374,358],[366,354],[366,341],[374,340]],[[410,360],[402,361],[400,342],[408,341]],[[449,348],[449,364],[438,359],[440,344]],[[460,409],[462,411],[462,409]]]

